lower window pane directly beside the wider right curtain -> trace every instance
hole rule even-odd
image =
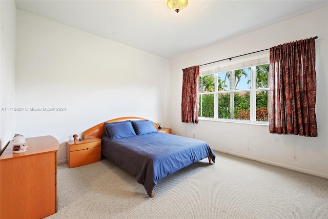
[[[256,121],[269,121],[269,109],[270,109],[270,95],[269,91],[257,91],[256,92]]]

